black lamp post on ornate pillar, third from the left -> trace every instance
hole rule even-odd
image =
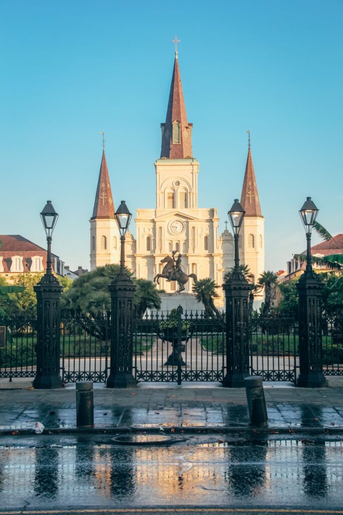
[[[249,311],[248,297],[251,285],[239,267],[239,232],[245,211],[234,199],[228,212],[234,238],[234,269],[223,284],[226,303],[226,375],[223,386],[244,387],[244,377],[249,374]]]

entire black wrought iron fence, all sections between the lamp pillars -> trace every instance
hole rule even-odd
[[[37,319],[3,319],[0,325],[7,329],[5,347],[0,348],[0,378],[33,378]],[[299,367],[297,322],[280,314],[255,314],[249,330],[250,373],[261,375],[264,381],[295,382]],[[64,318],[60,331],[63,381],[104,383],[110,366],[110,319]],[[136,321],[136,380],[221,382],[226,372],[225,337],[223,315],[147,315]],[[322,356],[325,375],[343,375],[343,316],[323,316]]]

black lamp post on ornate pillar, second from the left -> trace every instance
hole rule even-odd
[[[136,286],[125,270],[125,234],[131,213],[122,200],[115,212],[120,232],[120,272],[109,286],[111,292],[111,361],[107,388],[136,386],[132,374],[134,293]]]

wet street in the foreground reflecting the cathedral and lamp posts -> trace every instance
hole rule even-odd
[[[339,510],[342,458],[338,437],[172,435],[146,447],[110,435],[3,436],[1,507]]]

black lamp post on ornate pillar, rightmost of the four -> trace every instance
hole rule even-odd
[[[297,283],[299,294],[299,369],[297,386],[320,388],[326,386],[322,364],[321,290],[322,284],[312,268],[311,232],[318,208],[307,197],[300,217],[306,231],[306,269]]]

